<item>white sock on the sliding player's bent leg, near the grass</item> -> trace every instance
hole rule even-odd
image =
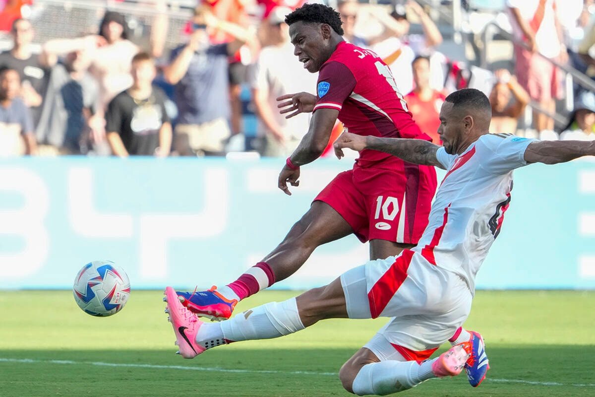
[[[366,364],[353,380],[353,393],[384,396],[411,389],[424,380],[436,377],[432,372],[434,360],[426,360],[421,365],[416,361],[396,360]]]

